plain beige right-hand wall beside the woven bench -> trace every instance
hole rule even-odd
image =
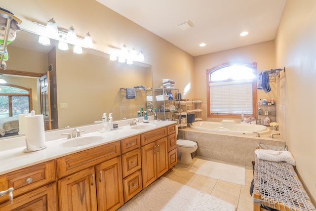
[[[286,112],[286,143],[315,203],[315,0],[287,0],[276,36],[276,64],[286,67],[278,90],[278,103]]]

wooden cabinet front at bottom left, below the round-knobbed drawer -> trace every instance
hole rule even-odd
[[[14,191],[13,191],[14,195]],[[1,211],[56,211],[56,183],[52,183],[0,205]]]

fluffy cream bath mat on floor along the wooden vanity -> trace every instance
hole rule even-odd
[[[228,202],[160,177],[118,211],[235,211]]]

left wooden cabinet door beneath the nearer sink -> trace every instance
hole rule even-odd
[[[94,167],[58,180],[61,211],[97,211]]]

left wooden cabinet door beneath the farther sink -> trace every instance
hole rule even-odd
[[[157,179],[156,153],[156,142],[142,147],[143,189]]]

